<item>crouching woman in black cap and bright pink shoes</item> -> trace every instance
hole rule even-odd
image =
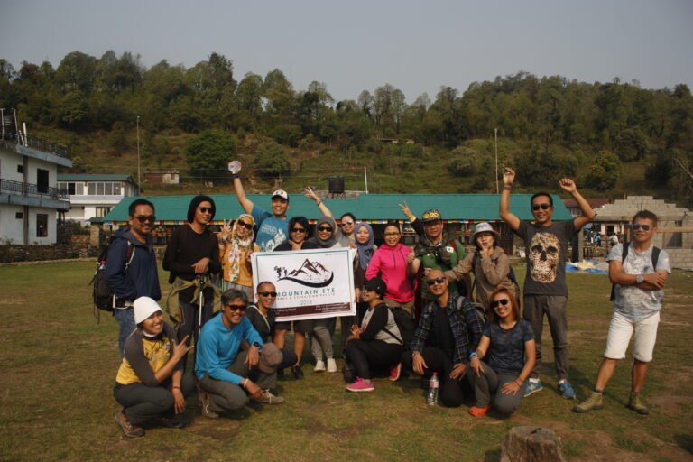
[[[380,278],[365,283],[362,299],[368,303],[368,310],[361,326],[352,326],[347,339],[347,362],[356,370],[356,381],[347,385],[349,392],[374,391],[372,368],[390,367],[390,379],[399,378],[402,335],[394,322],[393,311],[383,301],[385,291],[385,282]]]

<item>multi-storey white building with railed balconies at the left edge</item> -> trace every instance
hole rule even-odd
[[[58,144],[14,134],[0,137],[0,242],[55,244],[57,217],[69,209],[67,191],[58,189],[58,166],[72,167]]]

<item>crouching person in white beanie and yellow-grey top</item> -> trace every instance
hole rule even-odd
[[[194,389],[191,375],[183,375],[180,359],[192,347],[176,342],[176,331],[163,321],[159,304],[149,297],[134,300],[137,328],[125,340],[125,355],[115,377],[113,395],[123,410],[115,421],[126,437],[144,436],[143,423],[156,420],[166,426],[183,426],[180,414],[185,396]]]

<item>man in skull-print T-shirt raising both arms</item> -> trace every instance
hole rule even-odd
[[[500,216],[513,232],[522,237],[527,260],[527,277],[524,281],[523,317],[531,323],[536,337],[536,362],[531,371],[525,396],[541,391],[541,331],[544,314],[549,319],[559,393],[568,400],[575,399],[575,391],[568,382],[568,284],[566,283],[566,255],[568,243],[595,212],[587,200],[577,192],[573,180],[563,178],[559,186],[576,200],[582,215],[569,221],[553,221],[553,198],[548,192],[538,192],[530,199],[533,223],[521,220],[510,211],[510,191],[513,189],[515,171],[505,167]]]

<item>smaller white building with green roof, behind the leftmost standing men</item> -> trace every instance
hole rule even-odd
[[[67,189],[69,194],[70,208],[65,219],[79,221],[83,226],[88,226],[91,218],[106,217],[123,198],[140,195],[129,175],[60,173],[58,187]]]

